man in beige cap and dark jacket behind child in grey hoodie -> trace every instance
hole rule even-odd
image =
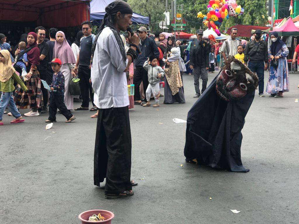
[[[143,64],[147,59],[154,55],[157,59],[159,57],[159,50],[152,38],[147,36],[147,28],[140,27],[137,30],[138,36],[141,39],[139,44],[141,54],[139,54],[135,61],[135,71],[134,71],[134,85],[135,85],[135,95],[134,95],[134,104],[146,104],[146,102],[141,102],[140,93],[139,93],[139,85],[142,81],[143,83],[143,90],[144,96],[146,95],[145,92],[147,90],[147,86],[149,85],[147,71],[144,70]]]

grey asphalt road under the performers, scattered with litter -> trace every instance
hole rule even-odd
[[[131,177],[138,185],[128,198],[106,200],[93,185],[93,112],[74,112],[77,119],[69,124],[59,114],[49,130],[48,114],[25,117],[22,124],[9,124],[11,117],[4,116],[0,223],[79,224],[78,214],[91,209],[114,212],[114,224],[299,223],[298,73],[290,74],[284,98],[261,98],[256,91],[242,130],[248,173],[184,162],[186,124],[172,119],[186,119],[196,99],[192,76],[183,77],[185,104],[138,105],[129,112]]]

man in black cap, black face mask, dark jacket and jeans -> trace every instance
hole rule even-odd
[[[254,39],[250,41],[244,51],[244,63],[259,77],[259,96],[264,97],[264,70],[268,67],[267,42],[261,40],[262,30],[254,32]]]

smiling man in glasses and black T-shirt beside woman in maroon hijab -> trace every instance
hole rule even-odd
[[[47,66],[48,59],[47,55],[49,53],[49,46],[44,41],[46,37],[46,29],[42,26],[35,28],[35,33],[37,34],[37,46],[39,48],[40,56],[39,56],[39,65],[37,66],[37,70],[39,71],[40,79],[47,80]],[[38,109],[40,113],[48,113],[47,103],[48,103],[48,90],[44,88],[44,85],[41,83],[42,90],[42,98],[44,105]]]

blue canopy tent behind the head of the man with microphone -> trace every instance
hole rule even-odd
[[[105,15],[105,7],[114,0],[92,0],[90,2],[90,21],[95,24],[101,24]],[[149,24],[149,17],[133,13],[132,23]]]

